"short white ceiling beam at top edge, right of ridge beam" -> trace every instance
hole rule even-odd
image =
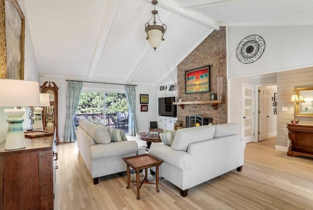
[[[217,6],[228,3],[235,3],[244,0],[193,0],[185,3],[180,3],[178,6],[181,9],[196,9],[201,7]]]

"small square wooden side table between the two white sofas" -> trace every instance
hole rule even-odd
[[[150,154],[142,154],[131,156],[127,158],[122,158],[124,162],[127,164],[127,189],[130,187],[130,167],[132,167],[136,171],[136,185],[137,185],[137,200],[140,199],[140,187],[143,184],[156,185],[156,192],[159,192],[158,189],[158,166],[163,163],[162,160],[154,157]],[[148,168],[156,166],[156,182],[148,182]],[[145,178],[140,182],[139,172],[145,169]],[[132,181],[133,182],[133,181]]]

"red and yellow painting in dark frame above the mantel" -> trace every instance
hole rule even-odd
[[[185,93],[210,92],[210,66],[185,71]]]

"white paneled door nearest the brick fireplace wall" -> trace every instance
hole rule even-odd
[[[254,139],[254,85],[243,84],[243,121],[242,121],[242,137],[246,143]]]

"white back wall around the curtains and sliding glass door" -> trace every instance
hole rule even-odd
[[[58,88],[58,125],[59,138],[64,141],[64,128],[66,119],[66,102],[67,102],[67,81],[62,77],[44,76],[40,77],[40,85],[46,81],[54,82]],[[125,93],[123,85],[109,85],[96,83],[83,83],[83,91],[107,92],[107,93]],[[148,112],[140,112],[139,94],[149,94]],[[141,85],[136,87],[136,118],[139,131],[147,131],[150,121],[156,121],[157,115],[157,92],[155,85]]]

